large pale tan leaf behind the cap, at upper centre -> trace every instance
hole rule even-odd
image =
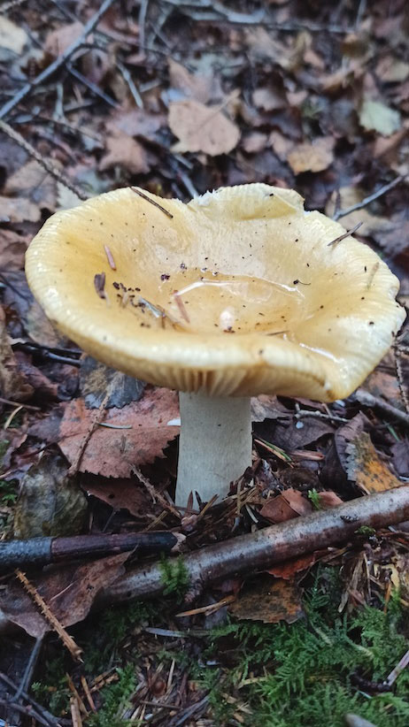
[[[180,140],[174,152],[203,151],[211,157],[235,149],[240,131],[219,106],[204,106],[198,101],[175,101],[169,104],[168,123]]]

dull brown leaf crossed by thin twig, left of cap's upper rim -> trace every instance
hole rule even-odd
[[[26,197],[40,209],[53,212],[56,208],[57,184],[35,159],[31,159],[9,177],[4,194]]]

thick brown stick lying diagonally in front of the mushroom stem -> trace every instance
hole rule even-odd
[[[324,547],[344,543],[361,527],[374,530],[401,523],[409,518],[409,486],[359,497],[329,510],[320,510],[286,523],[271,525],[237,538],[225,540],[195,553],[179,556],[189,578],[189,588],[197,590],[214,580],[266,570],[274,563]],[[98,595],[95,608],[132,599],[155,598],[166,583],[158,563],[130,570]],[[1,603],[1,601],[0,601]],[[0,632],[15,628],[0,609]]]

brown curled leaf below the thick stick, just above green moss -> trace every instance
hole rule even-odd
[[[278,624],[279,621],[294,624],[304,616],[301,596],[301,589],[292,581],[260,576],[245,587],[228,609],[238,619],[264,624]]]

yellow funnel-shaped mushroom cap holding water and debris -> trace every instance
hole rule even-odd
[[[27,278],[58,328],[135,377],[328,402],[359,386],[405,318],[371,249],[328,244],[344,232],[265,184],[188,204],[118,189],[51,217]]]

